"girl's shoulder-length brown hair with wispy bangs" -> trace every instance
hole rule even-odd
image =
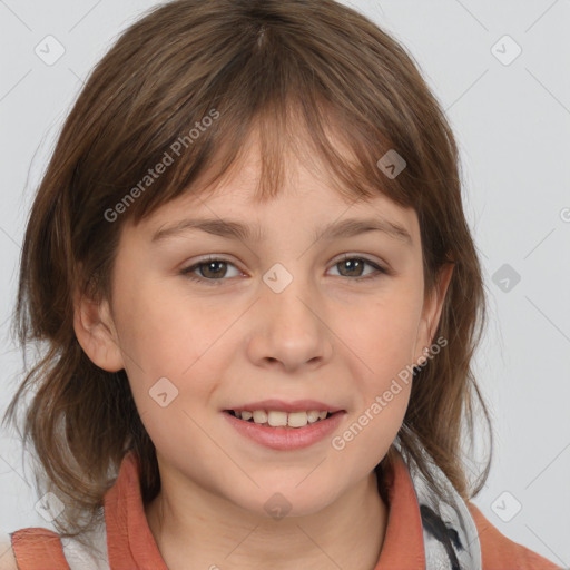
[[[145,503],[160,489],[155,446],[125,371],[99,368],[76,338],[73,293],[110,299],[125,223],[198,191],[193,184],[206,167],[204,188],[214,185],[235,167],[254,129],[259,200],[278,191],[283,151],[303,134],[344,196],[382,193],[415,209],[426,294],[440,269],[454,264],[435,333],[448,345],[414,380],[399,435],[434,490],[422,450],[465,500],[487,480],[490,459],[471,494],[461,460],[461,432],[465,426],[473,441],[476,401],[490,425],[470,364],[485,321],[481,267],[462,207],[458,147],[413,57],[334,0],[177,0],[132,24],[90,73],[26,229],[13,334],[24,348],[43,341],[46,351],[3,421],[14,420],[24,391],[35,387],[22,441],[31,438],[49,488],[65,503],[53,521],[62,535],[100,515],[129,450],[141,458]],[[337,151],[330,131],[352,157]],[[390,149],[406,160],[394,178],[377,166]],[[146,178],[167,155],[173,164]]]

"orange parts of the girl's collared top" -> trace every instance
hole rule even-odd
[[[407,466],[401,456],[386,473],[389,515],[374,570],[423,570],[422,520]],[[140,494],[138,458],[129,452],[104,498],[107,554],[111,570],[168,570],[150,532]],[[561,570],[546,558],[501,534],[472,503],[469,509],[481,542],[483,570]],[[59,535],[43,528],[11,533],[19,570],[71,570]],[[75,569],[72,569],[75,570]]]

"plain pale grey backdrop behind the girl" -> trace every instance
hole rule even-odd
[[[21,380],[8,325],[33,193],[87,73],[155,3],[0,1],[1,413]],[[475,365],[495,434],[473,502],[503,534],[570,567],[570,2],[346,3],[413,55],[461,148],[490,303]],[[31,482],[14,433],[1,432],[0,531],[51,528]]]

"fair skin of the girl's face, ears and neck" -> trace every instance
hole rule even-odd
[[[256,204],[258,155],[248,147],[214,195],[185,195],[138,226],[126,225],[112,306],[77,303],[81,346],[101,368],[126,370],[156,445],[161,491],[146,514],[170,570],[372,570],[382,550],[387,505],[374,468],[402,424],[411,385],[345,449],[331,441],[401,370],[421,361],[451,273],[424,298],[413,209],[381,195],[348,203],[324,177],[293,159],[288,167],[277,198]],[[158,229],[198,217],[259,226],[264,238],[194,229],[151,242]],[[370,217],[400,225],[410,242],[382,232],[314,238],[330,223]],[[341,254],[366,265],[351,267]],[[222,259],[213,267],[207,255]],[[193,275],[200,283],[180,274],[198,262]],[[276,263],[293,276],[278,294],[263,281]],[[368,275],[375,277],[363,281]],[[160,377],[178,390],[166,407],[148,393]],[[271,397],[314,399],[346,414],[331,436],[292,451],[245,439],[223,416]],[[281,520],[264,509],[277,492],[292,505]]]

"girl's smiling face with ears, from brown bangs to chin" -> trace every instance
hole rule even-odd
[[[274,493],[291,515],[311,514],[371,475],[409,402],[411,381],[397,390],[394,379],[419,362],[441,311],[423,296],[413,209],[381,195],[350,203],[289,167],[278,197],[257,204],[250,150],[215,194],[177,198],[125,226],[112,307],[98,307],[105,333],[88,338],[76,318],[94,362],[125,367],[160,466],[264,515]],[[247,235],[233,235],[228,220]],[[362,232],[370,220],[380,229]],[[353,230],[331,229],[343,227]],[[265,400],[338,412],[297,435],[227,412]]]

